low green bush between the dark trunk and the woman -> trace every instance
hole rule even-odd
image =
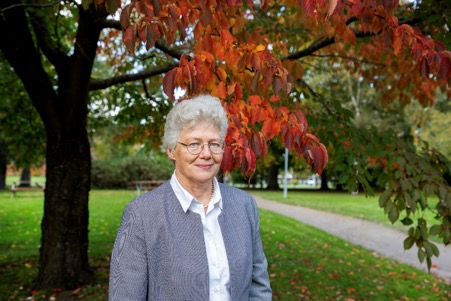
[[[167,180],[174,165],[162,153],[135,155],[113,160],[94,160],[91,184],[97,188],[125,188],[139,180]]]

